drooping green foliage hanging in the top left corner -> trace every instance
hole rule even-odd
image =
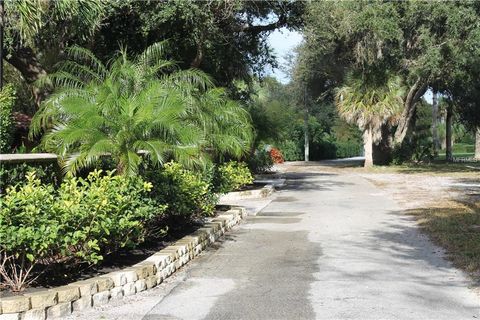
[[[48,91],[35,81],[55,69],[65,47],[85,42],[100,26],[107,2],[102,0],[6,0],[5,60],[30,88],[30,95],[20,110],[35,110]],[[33,107],[33,108],[32,108]]]

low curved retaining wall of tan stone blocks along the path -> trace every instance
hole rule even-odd
[[[247,216],[236,207],[146,260],[66,286],[0,298],[0,320],[55,319],[153,288]]]

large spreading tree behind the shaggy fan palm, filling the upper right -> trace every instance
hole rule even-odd
[[[295,83],[313,99],[325,102],[334,100],[336,88],[354,89],[351,97],[356,96],[357,102],[364,100],[359,99],[362,92],[374,97],[398,91],[396,112],[377,110],[384,123],[373,129],[373,153],[378,151],[381,162],[393,149],[412,143],[408,136],[415,126],[416,109],[429,89],[451,100],[464,122],[478,125],[474,102],[480,74],[478,21],[480,7],[474,1],[310,2],[305,42],[293,70]],[[395,88],[391,75],[398,78]],[[373,81],[372,86],[372,79],[383,80]],[[360,115],[365,118],[368,112]]]

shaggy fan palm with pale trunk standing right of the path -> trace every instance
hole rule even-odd
[[[382,81],[383,80],[383,81]],[[347,77],[347,84],[337,90],[335,103],[341,117],[363,131],[365,167],[373,160],[373,144],[381,139],[381,127],[394,124],[402,110],[402,85],[399,77],[367,79]]]

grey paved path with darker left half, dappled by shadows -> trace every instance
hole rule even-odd
[[[480,299],[462,273],[364,178],[315,167],[287,177],[268,206],[168,292],[104,317],[480,318]]]

